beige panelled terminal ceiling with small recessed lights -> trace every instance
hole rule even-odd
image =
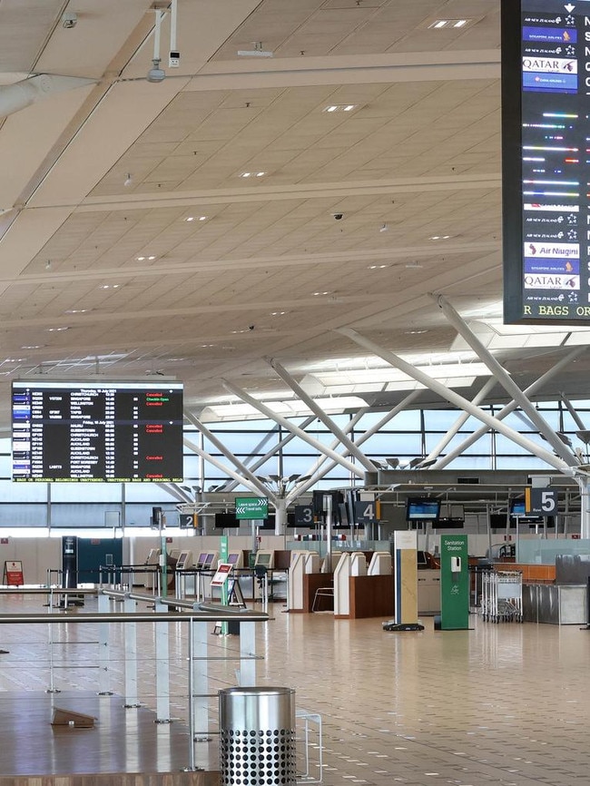
[[[15,377],[159,372],[211,411],[223,379],[284,393],[265,358],[298,379],[363,368],[341,327],[448,351],[428,293],[500,316],[498,0],[178,0],[162,84],[152,6],[0,0],[0,84],[95,80],[0,120],[0,426]],[[523,385],[564,351],[511,346]],[[546,395],[585,394],[572,368]],[[382,389],[364,400],[403,395]]]

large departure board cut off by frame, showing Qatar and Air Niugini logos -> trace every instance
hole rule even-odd
[[[590,322],[589,5],[502,0],[506,322]]]

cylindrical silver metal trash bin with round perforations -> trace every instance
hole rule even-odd
[[[295,772],[295,691],[219,692],[220,786],[291,786]]]

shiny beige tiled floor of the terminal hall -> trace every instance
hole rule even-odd
[[[2,598],[5,611],[38,611],[41,604]],[[271,612],[274,619],[259,630],[258,683],[293,687],[298,708],[320,712],[327,786],[590,782],[590,631],[491,624],[473,615],[470,631],[435,632],[425,618],[423,633],[386,633],[379,618],[286,614],[280,604]],[[171,627],[174,714],[185,718],[185,627]],[[149,706],[152,634],[142,630],[140,695]],[[55,679],[64,690],[94,690],[92,626],[64,625],[61,633],[68,644],[56,657],[72,668]],[[0,644],[10,651],[0,655],[0,688],[19,692],[23,712],[27,692],[47,686],[46,641],[44,625],[0,630]],[[211,636],[217,656],[236,646],[234,637]],[[236,684],[235,667],[210,664],[211,693]],[[115,683],[121,673],[123,663],[115,661]],[[215,723],[211,699],[211,728]]]

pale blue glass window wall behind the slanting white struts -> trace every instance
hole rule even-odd
[[[536,405],[543,417],[556,431],[572,438],[585,454],[588,446],[575,437],[578,426],[561,401]],[[487,407],[496,414],[502,407]],[[577,401],[575,408],[582,422],[590,423],[590,401]],[[358,441],[369,428],[384,416],[384,412],[370,412],[359,419],[349,436]],[[390,420],[386,427],[369,437],[361,446],[363,453],[371,458],[385,461],[397,457],[403,466],[414,457],[428,456],[438,445],[447,430],[461,415],[455,409],[408,409]],[[339,415],[332,419],[345,429],[352,415]],[[294,418],[301,426],[304,418]],[[536,432],[533,424],[520,411],[505,418],[506,425],[546,447],[546,442]],[[442,451],[442,456],[459,446],[463,440],[480,427],[477,418],[467,421]],[[238,457],[257,476],[290,477],[309,475],[320,460],[317,447],[312,447],[300,437],[292,437],[284,445],[280,443],[290,436],[283,427],[268,420],[245,420],[208,424],[234,456]],[[305,431],[320,443],[336,447],[335,438],[320,420],[314,420]],[[187,426],[185,436],[195,445],[203,447],[221,464],[230,467],[230,462],[208,439],[194,428]],[[13,483],[11,481],[10,439],[0,439],[0,528],[108,528],[120,521],[125,529],[150,525],[152,506],[161,506],[166,511],[168,526],[178,526],[177,500],[156,484],[120,483]],[[270,452],[271,453],[269,456]],[[354,462],[354,459],[351,459]],[[590,457],[586,456],[587,463]],[[531,456],[514,442],[496,432],[487,432],[474,445],[463,450],[448,465],[448,469],[546,469],[542,460]],[[198,486],[203,491],[226,488],[233,483],[229,473],[224,473],[210,462],[202,460],[194,451],[185,447],[184,478],[187,486]],[[345,467],[337,465],[329,470],[315,486],[360,486],[362,480],[352,477]],[[243,491],[244,486],[234,490]],[[117,516],[118,514],[118,516]]]

